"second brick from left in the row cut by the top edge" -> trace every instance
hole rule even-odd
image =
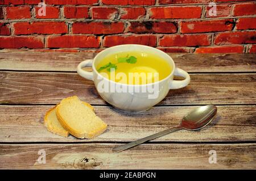
[[[47,5],[93,5],[98,0],[45,0]]]

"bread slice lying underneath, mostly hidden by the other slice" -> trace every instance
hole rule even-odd
[[[89,103],[82,102],[82,104],[84,104],[85,106],[89,107],[91,110],[94,111],[94,108]],[[58,134],[59,136],[68,137],[68,131],[65,130],[59,123],[59,120],[57,120],[57,105],[46,112],[46,116],[44,116],[44,125],[47,127],[49,132]]]

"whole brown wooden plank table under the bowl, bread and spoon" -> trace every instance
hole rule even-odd
[[[155,107],[133,115],[100,98],[76,66],[95,53],[0,53],[1,169],[256,169],[256,55],[170,54],[191,75]],[[57,136],[43,117],[67,96],[92,104],[109,126],[93,140]],[[174,127],[193,108],[218,107],[201,131],[177,131],[121,153],[114,146]],[[38,151],[46,151],[40,164]],[[217,163],[209,163],[209,151]]]

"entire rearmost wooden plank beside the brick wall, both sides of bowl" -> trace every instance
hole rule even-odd
[[[169,53],[176,66],[188,72],[256,71],[255,54],[180,54]],[[96,53],[0,52],[0,70],[76,71],[79,62],[92,59]]]

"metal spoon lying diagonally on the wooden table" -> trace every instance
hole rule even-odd
[[[151,136],[147,136],[144,138],[141,138],[140,140],[129,142],[128,144],[117,146],[113,149],[114,152],[123,151],[129,148],[132,148],[134,146],[143,144],[143,142],[146,142],[148,140],[153,140],[155,138],[158,138],[160,136],[164,136],[168,133],[180,130],[180,129],[186,129],[188,131],[195,131],[197,129],[201,129],[205,127],[207,124],[210,123],[210,121],[213,120],[214,116],[217,113],[217,107],[214,105],[207,105],[207,106],[201,106],[199,108],[196,108],[195,110],[192,110],[187,115],[185,115],[181,121],[181,124],[178,127],[170,128],[165,131],[152,134]]]

